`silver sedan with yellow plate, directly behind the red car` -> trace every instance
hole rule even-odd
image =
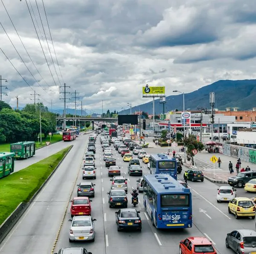
[[[91,216],[74,216],[70,225],[69,241],[92,241],[95,239],[94,221]]]

